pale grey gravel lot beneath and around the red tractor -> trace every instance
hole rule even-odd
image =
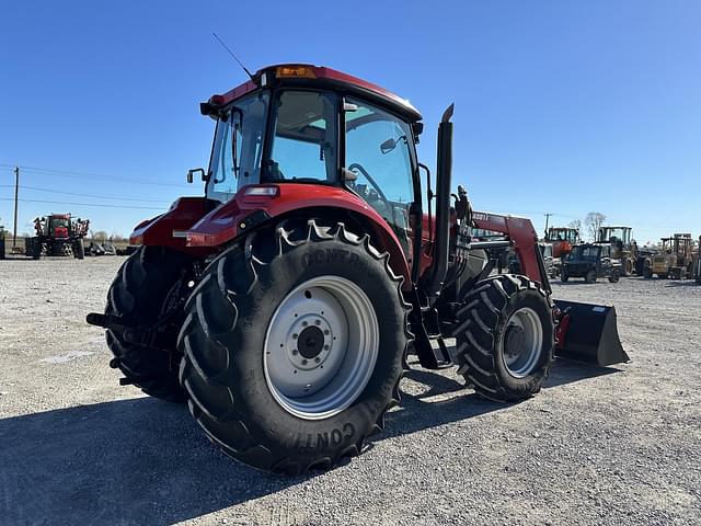
[[[368,450],[284,478],[119,387],[100,311],[122,258],[0,261],[0,524],[701,524],[701,287],[553,284],[611,302],[632,362],[559,361],[515,405],[414,369]]]

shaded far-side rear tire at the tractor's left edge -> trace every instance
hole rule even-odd
[[[192,262],[187,254],[172,249],[141,247],[119,268],[107,294],[105,313],[120,317],[125,324],[154,323],[171,290],[183,279]],[[180,329],[184,318],[183,310],[173,324]],[[118,367],[127,379],[151,397],[184,402],[185,392],[177,377],[177,329],[168,331],[163,339],[170,342],[168,350],[127,342],[123,332],[114,329],[105,332],[107,346],[116,358],[111,366]]]

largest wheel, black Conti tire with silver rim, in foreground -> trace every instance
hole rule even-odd
[[[258,469],[295,474],[357,455],[399,402],[401,283],[342,224],[286,224],[230,248],[188,300],[179,339],[193,416]]]

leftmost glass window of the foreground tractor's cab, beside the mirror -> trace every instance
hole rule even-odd
[[[217,119],[208,198],[227,202],[240,187],[260,182],[268,99],[266,91],[244,96]]]

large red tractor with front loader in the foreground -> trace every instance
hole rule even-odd
[[[455,359],[504,402],[538,392],[555,352],[628,361],[612,308],[553,304],[528,219],[473,213],[462,187],[451,203],[452,106],[435,195],[421,114],[348,75],[274,66],[200,111],[214,147],[188,180],[200,173],[205,195],[136,227],[141,247],[88,321],[106,329],[122,384],[187,400],[228,455],[299,473],[359,454],[399,402],[409,353],[428,369]],[[492,275],[509,247],[524,275]]]

